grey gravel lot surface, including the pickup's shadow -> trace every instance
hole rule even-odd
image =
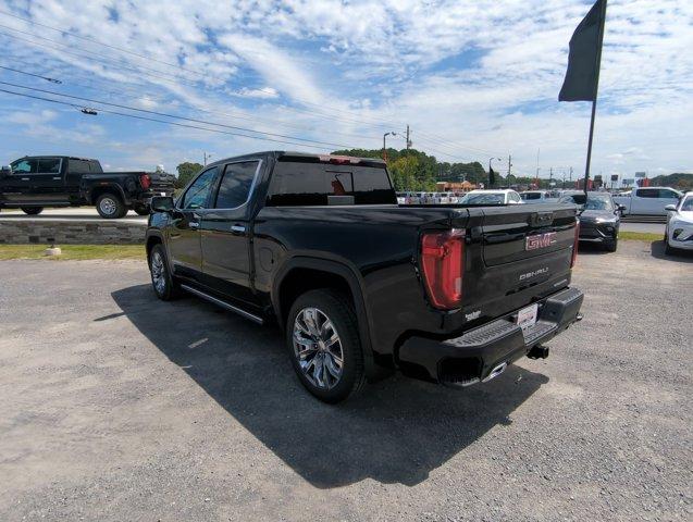
[[[691,520],[693,258],[591,249],[584,321],[466,390],[338,407],[139,262],[0,262],[0,520]]]

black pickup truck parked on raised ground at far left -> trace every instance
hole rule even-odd
[[[0,172],[0,209],[29,215],[46,207],[95,206],[102,217],[123,217],[129,209],[149,213],[153,196],[172,196],[175,176],[165,172],[103,172],[98,160],[33,156]]]

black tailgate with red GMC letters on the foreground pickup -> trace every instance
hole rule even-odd
[[[518,204],[469,211],[461,306],[468,321],[497,318],[568,286],[574,207]],[[459,226],[462,223],[460,219]]]

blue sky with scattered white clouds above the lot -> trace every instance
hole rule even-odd
[[[21,71],[0,69],[0,89],[62,102],[0,92],[0,162],[70,154],[174,172],[205,153],[375,149],[387,132],[401,149],[409,125],[412,147],[440,161],[493,157],[505,174],[511,154],[513,174],[576,178],[591,104],[557,98],[590,7],[0,0],[0,67]],[[693,172],[691,49],[693,1],[608,2],[593,174]]]

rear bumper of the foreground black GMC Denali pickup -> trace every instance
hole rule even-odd
[[[567,288],[539,302],[536,324],[522,330],[517,310],[453,339],[413,336],[399,349],[403,373],[453,386],[468,386],[510,364],[579,321],[583,294]]]

